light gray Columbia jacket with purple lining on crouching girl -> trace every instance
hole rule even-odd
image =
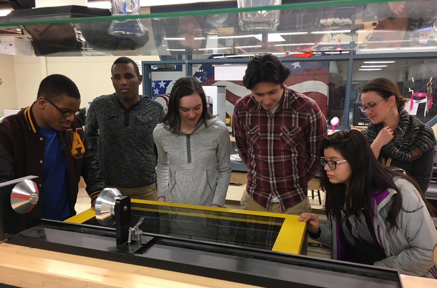
[[[433,260],[433,250],[437,245],[437,231],[433,220],[423,203],[419,192],[406,179],[393,178],[395,185],[402,191],[402,207],[399,212],[399,229],[388,230],[388,211],[392,197],[397,193],[387,189],[371,197],[375,216],[372,216],[373,228],[379,245],[387,258],[373,263],[375,266],[399,270],[399,273],[437,279],[437,266]],[[328,217],[328,225],[320,225],[321,234],[315,239],[332,247],[332,259],[343,260],[344,246],[340,239],[339,227],[335,217]]]

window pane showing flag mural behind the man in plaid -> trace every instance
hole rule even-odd
[[[212,55],[209,59],[222,56]],[[230,59],[232,56],[228,56]],[[241,56],[234,56],[241,57]],[[291,89],[307,95],[317,102],[326,119],[340,118],[343,125],[344,102],[346,99],[347,61],[289,61],[283,63],[290,68],[291,74],[285,84]],[[224,86],[226,95],[219,98],[225,102],[226,121],[233,113],[236,101],[250,94],[243,86],[246,64],[193,64],[191,75],[202,86]],[[208,93],[207,93],[208,94]],[[214,111],[213,111],[214,112]],[[214,114],[214,113],[213,113]]]

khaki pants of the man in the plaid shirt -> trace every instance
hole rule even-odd
[[[257,201],[253,200],[250,197],[249,193],[246,190],[243,192],[243,197],[241,197],[241,208],[243,210],[250,211],[258,211],[258,212],[271,212],[271,213],[281,213],[281,214],[291,214],[291,215],[300,215],[304,212],[311,213],[311,203],[309,203],[308,196],[305,197],[302,202],[295,204],[294,206],[288,207],[287,210],[281,211],[281,207],[279,203],[272,203],[272,209],[267,210],[263,206],[261,206]],[[297,220],[296,220],[297,221]],[[305,232],[305,237],[302,243],[301,254],[306,255],[308,250],[308,235]]]

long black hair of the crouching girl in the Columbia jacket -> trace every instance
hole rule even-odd
[[[329,135],[322,141],[321,155],[324,155],[326,148],[333,148],[348,161],[352,169],[349,192],[347,193],[347,215],[353,215],[358,209],[364,208],[372,212],[371,196],[375,191],[385,191],[388,188],[394,189],[397,194],[393,196],[393,203],[388,211],[386,221],[390,228],[398,227],[396,218],[402,207],[402,193],[395,185],[393,177],[399,176],[413,184],[422,197],[423,202],[431,215],[434,215],[434,207],[425,199],[419,184],[412,177],[393,170],[393,168],[382,166],[375,158],[373,152],[363,134],[357,130],[341,130]],[[340,210],[344,202],[345,184],[333,184],[329,182],[326,171],[322,168],[320,186],[326,191],[326,215],[335,215],[337,221],[342,221]],[[375,195],[375,194],[374,194]],[[404,210],[405,211],[405,210]],[[412,212],[412,211],[406,211]]]

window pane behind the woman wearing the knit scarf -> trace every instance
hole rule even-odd
[[[407,111],[416,115],[423,123],[427,123],[437,114],[437,60],[436,59],[381,59],[354,61],[352,91],[350,95],[350,111],[354,113],[356,123],[368,123],[365,113],[359,111],[361,88],[370,80],[386,77],[394,81],[401,95],[410,99],[406,103]],[[427,99],[427,83],[431,81],[431,95],[434,95],[430,110],[425,111]],[[411,99],[413,102],[411,102]],[[413,107],[412,107],[413,106]],[[414,108],[414,109],[411,109]],[[359,119],[359,121],[358,121]],[[352,123],[351,123],[352,124]]]

